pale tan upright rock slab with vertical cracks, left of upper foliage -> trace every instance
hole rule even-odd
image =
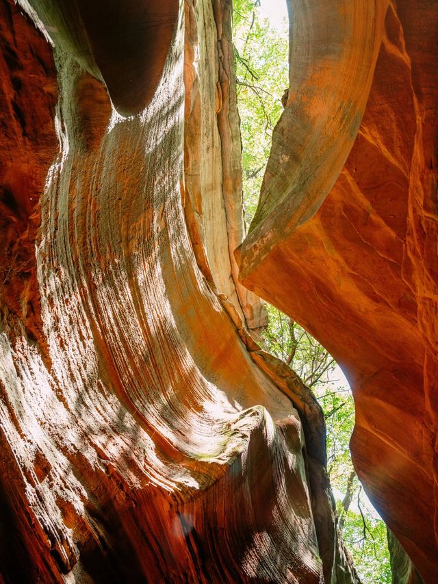
[[[244,239],[240,129],[231,10],[185,7],[185,217],[196,261],[233,302],[249,329],[266,327],[263,303],[237,280],[234,250]],[[225,19],[225,22],[224,22]]]

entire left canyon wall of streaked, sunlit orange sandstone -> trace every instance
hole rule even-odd
[[[229,2],[21,7],[41,34],[2,0],[0,581],[357,581],[322,412],[242,320],[263,324],[231,255]]]

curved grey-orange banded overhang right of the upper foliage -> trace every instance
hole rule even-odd
[[[289,1],[289,92],[272,136],[246,263],[298,228],[337,179],[361,123],[388,0]]]

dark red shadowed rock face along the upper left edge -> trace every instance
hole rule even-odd
[[[34,241],[39,197],[57,151],[52,51],[11,3],[0,7],[0,295],[40,339]]]

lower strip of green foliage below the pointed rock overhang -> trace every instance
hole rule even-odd
[[[286,361],[309,385],[324,411],[327,472],[337,505],[338,528],[363,584],[391,583],[385,523],[378,517],[352,466],[350,437],[355,403],[334,359],[305,329],[268,305],[263,333],[267,351]]]

